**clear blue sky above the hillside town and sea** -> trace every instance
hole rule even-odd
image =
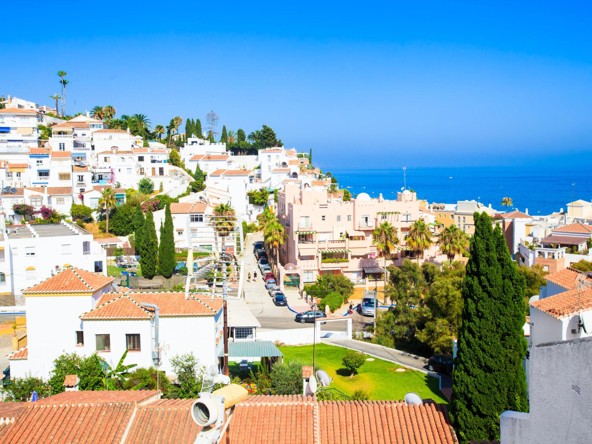
[[[0,92],[52,105],[63,69],[69,112],[111,104],[166,125],[215,110],[325,168],[592,151],[585,2],[247,3],[9,2]]]

